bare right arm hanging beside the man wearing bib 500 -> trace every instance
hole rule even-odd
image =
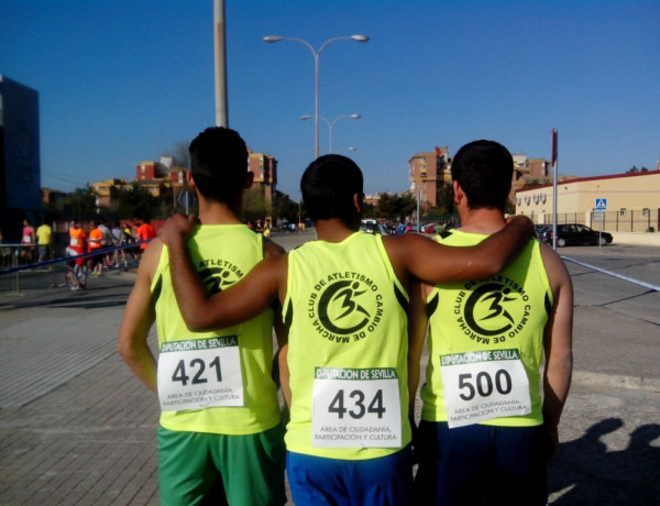
[[[541,252],[554,297],[543,341],[543,424],[551,442],[551,457],[554,457],[559,449],[559,420],[569,395],[573,371],[573,284],[559,255],[546,244],[541,244]]]

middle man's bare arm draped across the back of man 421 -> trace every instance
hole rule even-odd
[[[190,223],[189,219],[177,215],[158,231],[168,249],[172,284],[188,330],[230,327],[266,309],[277,297],[282,270],[286,275],[286,256],[264,258],[239,283],[209,295],[195,273],[186,248]]]

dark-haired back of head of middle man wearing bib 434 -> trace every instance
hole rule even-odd
[[[362,170],[342,155],[318,157],[300,179],[302,200],[314,221],[340,218],[352,224],[355,216],[353,196],[362,197]]]

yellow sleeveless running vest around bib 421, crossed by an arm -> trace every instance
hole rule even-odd
[[[219,292],[239,282],[263,257],[261,234],[242,224],[198,227],[188,241],[198,276],[209,292]],[[273,311],[240,326],[213,332],[190,332],[178,310],[169,273],[169,255],[163,248],[152,282],[155,300],[158,349],[209,338],[238,336],[243,377],[243,406],[162,411],[161,425],[169,430],[222,435],[251,435],[275,427],[279,421],[277,388],[271,377],[273,360]],[[174,343],[174,344],[173,344]],[[164,345],[166,348],[164,348]],[[185,363],[191,378],[196,367]],[[205,374],[210,374],[207,367]]]

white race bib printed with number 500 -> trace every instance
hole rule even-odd
[[[450,428],[531,413],[520,352],[487,350],[440,355]]]

